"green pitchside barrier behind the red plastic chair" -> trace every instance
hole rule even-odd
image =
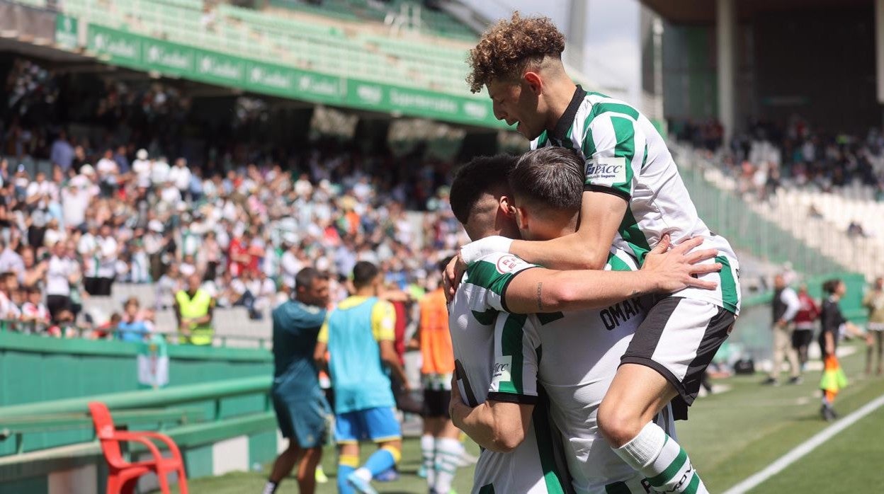
[[[171,437],[184,456],[188,477],[248,470],[278,452],[270,385],[268,374],[0,407],[0,449],[5,451],[0,454],[0,492],[43,492],[39,486],[70,482],[72,472],[80,481],[103,485],[105,460],[87,412],[93,400],[108,405],[117,425],[158,429]],[[190,405],[177,407],[181,404]],[[41,440],[45,436],[54,440]],[[132,460],[147,453],[143,445],[128,446]],[[140,491],[153,489],[156,481],[140,486]]]

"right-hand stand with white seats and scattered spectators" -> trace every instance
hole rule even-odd
[[[705,178],[843,270],[880,275],[884,239],[884,153],[880,132],[865,137],[815,133],[800,118],[779,126],[758,122],[728,148],[717,148],[716,125],[681,125],[676,133],[705,162]],[[720,141],[719,141],[720,144]],[[806,249],[810,250],[810,249]],[[796,253],[797,254],[797,253]],[[805,272],[815,270],[815,262]],[[803,269],[804,270],[804,266]]]

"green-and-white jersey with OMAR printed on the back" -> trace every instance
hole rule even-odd
[[[606,265],[606,270],[636,269],[625,253],[610,255]],[[644,476],[598,433],[596,415],[652,303],[652,297],[636,297],[602,309],[498,317],[488,399],[521,403],[537,396],[538,388],[546,391],[578,493],[646,492]]]

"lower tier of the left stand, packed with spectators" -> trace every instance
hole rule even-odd
[[[73,335],[94,336],[92,330],[121,313],[129,298],[141,301],[139,317],[157,333],[171,335],[177,324],[168,300],[183,277],[176,274],[164,279],[164,272],[171,268],[176,273],[185,268],[205,272],[214,262],[217,272],[207,277],[206,287],[218,301],[216,344],[260,346],[260,340],[266,342],[270,336],[270,324],[257,319],[266,317],[278,300],[285,300],[293,273],[301,267],[316,262],[346,276],[357,257],[379,247],[374,260],[383,262],[391,271],[391,283],[403,289],[417,281],[416,285],[434,283],[427,273],[435,269],[434,262],[443,251],[428,249],[450,250],[462,240],[444,201],[442,186],[450,162],[400,156],[393,163],[389,154],[366,156],[321,140],[313,141],[307,152],[293,152],[293,148],[261,152],[267,141],[260,148],[244,149],[245,142],[226,140],[223,135],[230,131],[225,130],[220,135],[191,133],[207,140],[206,152],[214,148],[211,152],[219,153],[217,163],[198,148],[187,153],[189,167],[170,170],[175,161],[164,158],[158,143],[167,143],[171,152],[182,143],[175,122],[185,100],[178,91],[156,83],[147,87],[117,83],[107,87],[108,94],[105,87],[91,81],[75,84],[91,87],[80,93],[90,103],[78,125],[73,125],[79,131],[67,138],[51,129],[72,122],[49,125],[59,114],[41,113],[46,110],[45,98],[66,97],[65,90],[59,89],[66,83],[23,59],[13,61],[6,77],[15,92],[10,106],[0,112],[0,118],[10,123],[0,128],[3,153],[9,156],[0,157],[4,189],[0,231],[4,247],[9,247],[0,255],[0,272],[14,272],[18,283],[9,290],[0,289],[4,302],[0,319],[7,320],[4,329],[67,336],[68,331],[53,329],[54,324],[47,325],[42,316],[36,327],[25,323],[33,319],[21,311],[25,289],[37,287],[46,293],[48,263],[57,239],[68,242],[66,256],[76,262],[77,271],[94,276],[89,273],[99,263],[90,253],[95,252],[94,242],[99,238],[98,224],[108,222],[110,236],[117,241],[109,261],[115,263],[117,280],[110,295],[93,293],[81,300],[82,315],[74,314],[74,320],[66,322],[80,328],[72,329]],[[118,95],[131,99],[121,103]],[[114,108],[113,117],[95,118],[108,105]],[[22,117],[20,121],[16,114]],[[248,128],[249,124],[237,125]],[[135,142],[126,142],[126,137],[116,141],[108,128],[122,130],[121,136],[139,135],[156,152],[149,156],[147,150],[137,150]],[[108,148],[113,149],[110,159],[103,157]],[[249,164],[244,156],[259,164]],[[291,175],[283,173],[274,156],[286,156]],[[36,177],[42,174],[46,179]],[[78,200],[79,194],[86,196]],[[274,196],[278,198],[275,205]],[[431,211],[406,213],[402,206]],[[70,216],[72,211],[79,213]],[[205,243],[210,231],[218,239],[214,247]],[[225,271],[230,271],[232,243],[246,231],[255,233],[252,244],[246,246],[255,250],[252,271],[263,273],[260,276],[266,276],[266,281],[261,282],[260,276],[240,279],[239,273],[223,279]],[[147,264],[150,272],[144,270]],[[233,281],[238,283],[231,292]],[[83,293],[86,283],[75,282],[73,291]],[[265,288],[267,283],[272,287]],[[165,301],[157,300],[156,284],[171,286]],[[256,299],[254,305],[249,297]],[[240,300],[246,307],[239,306]],[[8,304],[15,309],[6,311]]]

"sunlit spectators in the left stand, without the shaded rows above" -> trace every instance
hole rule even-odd
[[[376,262],[390,285],[422,290],[462,241],[445,187],[429,213],[409,215],[396,186],[380,192],[381,178],[347,154],[313,152],[310,171],[295,175],[247,164],[203,177],[183,158],[170,164],[144,149],[130,160],[125,147],[108,147],[95,165],[89,156],[74,163],[75,148],[59,134],[52,171],[33,177],[0,160],[6,321],[76,322],[84,297],[108,296],[122,282],[155,286],[156,307],[127,305],[122,315],[149,323],[194,272],[218,307],[245,306],[259,319],[306,266],[343,281],[355,262]]]

